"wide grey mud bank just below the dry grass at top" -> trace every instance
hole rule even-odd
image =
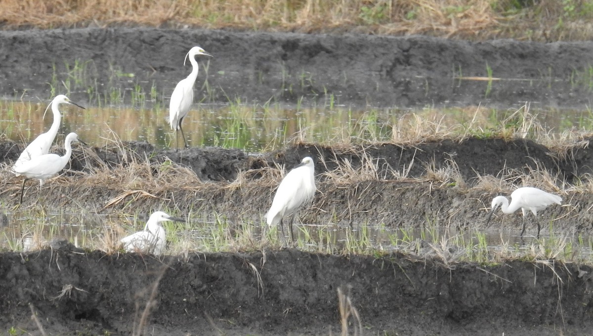
[[[296,104],[304,97],[305,104],[325,104],[333,97],[338,104],[379,107],[591,105],[589,41],[155,28],[0,31],[0,95],[50,98],[52,87],[60,91],[68,82],[70,98],[84,103],[89,90],[109,97],[113,89],[138,85],[145,92],[154,88],[167,104],[189,73],[183,58],[195,44],[215,56],[200,59],[209,64],[197,80],[197,97],[215,103]],[[458,79],[471,76],[494,80]]]

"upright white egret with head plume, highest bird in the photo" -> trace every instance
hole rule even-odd
[[[169,103],[169,123],[171,124],[171,129],[175,130],[177,151],[179,150],[177,130],[181,130],[181,136],[183,137],[185,148],[189,148],[189,146],[187,146],[185,135],[183,134],[183,129],[181,128],[181,121],[183,121],[183,119],[187,116],[187,113],[189,112],[189,109],[192,107],[193,103],[193,84],[196,82],[198,71],[195,58],[197,55],[212,57],[212,55],[206,53],[201,47],[193,47],[189,50],[186,55],[186,59],[189,57],[189,62],[192,63],[192,72],[189,74],[189,76],[181,79],[181,81],[177,83],[177,86],[173,90],[173,94],[171,94],[171,101]],[[185,59],[183,60],[183,65],[185,65]]]

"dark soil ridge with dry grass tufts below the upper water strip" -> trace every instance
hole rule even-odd
[[[94,168],[116,169],[132,162],[175,162],[192,169],[202,181],[234,181],[238,173],[250,169],[285,166],[290,169],[305,156],[315,160],[318,180],[349,162],[359,169],[366,162],[375,166],[375,180],[393,180],[397,175],[421,178],[429,171],[454,170],[470,185],[485,175],[519,177],[531,171],[546,171],[558,181],[593,174],[590,137],[547,148],[528,139],[442,139],[416,144],[379,143],[377,145],[326,146],[304,143],[276,152],[248,155],[240,149],[218,147],[158,149],[147,142],[125,142],[122,146],[77,146],[67,166],[71,170],[92,172]],[[0,142],[0,162],[11,165],[24,145],[10,140]],[[59,146],[56,151],[63,151]],[[256,174],[257,177],[257,174]]]

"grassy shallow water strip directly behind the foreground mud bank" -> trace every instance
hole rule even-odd
[[[32,219],[34,217],[34,219]],[[46,214],[24,216],[7,213],[8,221],[0,228],[0,250],[34,251],[66,239],[76,247],[103,249],[117,245],[117,240],[142,230],[146,218],[139,216],[104,216]],[[165,222],[168,247],[165,254],[187,251],[232,251],[239,246],[254,247],[262,239],[269,244],[283,244],[279,228],[271,231],[259,225],[229,223],[221,220],[189,219],[185,223]],[[289,241],[288,228],[286,239]],[[452,261],[492,261],[495,258],[539,255],[561,260],[593,258],[593,237],[541,235],[540,239],[518,229],[457,231],[449,228],[390,228],[382,225],[295,225],[295,246],[321,253],[374,253],[399,251],[417,255],[451,258]]]

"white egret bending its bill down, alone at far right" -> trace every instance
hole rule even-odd
[[[521,208],[523,213],[523,229],[521,230],[521,236],[523,236],[523,233],[525,232],[525,216],[527,216],[528,211],[531,211],[536,217],[537,238],[540,238],[540,222],[537,220],[537,212],[538,210],[546,209],[546,207],[551,204],[562,204],[562,197],[546,193],[546,191],[538,188],[518,188],[511,193],[511,204],[509,204],[509,200],[504,196],[496,196],[492,200],[492,210],[490,210],[490,215],[488,215],[486,224],[490,222],[490,217],[492,217],[492,214],[498,207],[500,207],[503,213],[514,213]]]

